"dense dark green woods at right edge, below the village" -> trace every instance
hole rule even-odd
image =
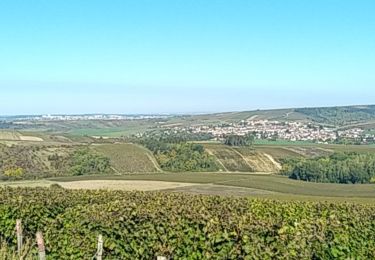
[[[292,179],[330,183],[374,183],[375,155],[334,153],[284,160],[282,173]]]

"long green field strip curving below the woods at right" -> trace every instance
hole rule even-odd
[[[146,180],[182,183],[215,184],[242,188],[252,188],[278,193],[284,197],[311,199],[337,198],[341,200],[360,199],[364,201],[375,199],[375,185],[372,184],[326,184],[309,183],[291,180],[277,175],[240,174],[240,173],[159,173],[131,174],[122,176],[81,176],[60,177],[49,179],[57,182],[82,180]]]

